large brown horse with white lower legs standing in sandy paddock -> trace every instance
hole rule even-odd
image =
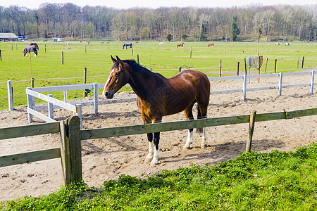
[[[151,72],[137,64],[135,60],[113,58],[113,66],[102,94],[113,98],[121,87],[130,84],[137,94],[137,107],[144,124],[161,122],[162,117],[184,111],[187,120],[193,120],[192,108],[198,103],[198,118],[206,118],[209,105],[210,82],[202,72],[186,70],[167,79],[159,73]],[[206,128],[202,129],[201,148],[206,148]],[[188,130],[184,148],[192,143],[193,129]],[[159,163],[160,133],[147,134],[149,154],[146,162]]]

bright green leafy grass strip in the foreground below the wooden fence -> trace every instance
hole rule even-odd
[[[84,181],[6,210],[316,210],[317,143],[294,152],[242,153],[234,160],[164,170],[147,179]]]

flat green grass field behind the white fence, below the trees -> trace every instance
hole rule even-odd
[[[219,73],[219,61],[222,60],[222,75],[233,75],[237,72],[237,62],[240,62],[240,75],[244,74],[244,58],[251,55],[263,56],[264,72],[274,72],[274,61],[278,60],[277,72],[293,72],[317,65],[316,43],[290,43],[290,46],[275,46],[275,43],[215,42],[214,47],[207,47],[207,42],[185,43],[183,48],[176,48],[177,42],[144,41],[133,42],[132,49],[122,49],[124,41],[111,41],[100,44],[92,41],[90,44],[70,41],[39,42],[39,55],[23,57],[25,42],[0,42],[0,110],[8,109],[6,81],[13,82],[14,107],[26,105],[25,88],[30,87],[30,78],[35,78],[35,87],[50,87],[64,84],[82,84],[83,70],[87,68],[87,83],[104,83],[113,65],[110,56],[121,59],[135,59],[139,55],[139,63],[154,72],[160,72],[165,77],[173,77],[178,68],[187,68],[205,72],[209,77]],[[70,48],[70,49],[66,49]],[[46,51],[46,52],[45,52]],[[62,65],[63,52],[63,65]],[[133,55],[132,55],[133,53]],[[192,57],[190,55],[192,54]],[[33,55],[33,54],[32,54]],[[299,68],[297,62],[299,60]],[[254,69],[254,74],[257,70]],[[76,77],[76,78],[72,78]],[[69,79],[72,78],[72,79]],[[25,82],[20,82],[24,81]],[[127,90],[130,88],[125,88]],[[101,91],[101,90],[100,90]],[[54,92],[55,98],[63,99],[63,93]],[[82,91],[70,91],[68,98],[82,98]]]

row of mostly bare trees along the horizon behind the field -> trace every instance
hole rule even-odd
[[[172,41],[316,40],[317,5],[130,8],[41,4],[0,6],[0,32],[28,39]]]

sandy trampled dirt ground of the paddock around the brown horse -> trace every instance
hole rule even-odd
[[[309,83],[310,76],[283,77],[283,84]],[[251,79],[247,87],[265,87],[278,84],[278,78]],[[242,80],[211,82],[212,90],[241,89]],[[317,88],[317,87],[316,87]],[[316,90],[315,88],[315,90]],[[277,89],[249,91],[247,99],[242,93],[212,95],[208,117],[247,115],[252,110],[257,113],[280,112],[317,108],[317,94],[310,94],[309,87],[283,89],[278,96]],[[135,97],[132,92],[122,92],[116,98]],[[101,100],[104,100],[100,96]],[[99,113],[93,114],[92,106],[82,108],[83,129],[115,127],[142,124],[141,115],[135,102],[99,106]],[[65,120],[72,115],[67,110],[54,110],[56,120]],[[37,117],[32,124],[42,123]],[[163,117],[163,122],[185,120],[183,113]],[[0,111],[0,127],[27,124],[26,106],[12,112]],[[270,152],[292,151],[317,141],[317,115],[298,117],[292,120],[256,122],[252,151]],[[192,148],[183,151],[187,131],[162,132],[159,165],[150,167],[144,163],[148,151],[147,135],[120,136],[108,139],[82,141],[82,176],[89,186],[99,187],[108,179],[118,179],[120,174],[147,177],[162,170],[188,167],[191,163],[216,164],[236,158],[245,149],[249,124],[235,124],[207,128],[207,148],[200,148],[201,137],[194,134]],[[30,136],[0,141],[1,155],[37,151],[60,146],[58,134]],[[0,200],[13,200],[23,196],[41,196],[61,188],[61,160],[46,160],[23,165],[0,168]]]

